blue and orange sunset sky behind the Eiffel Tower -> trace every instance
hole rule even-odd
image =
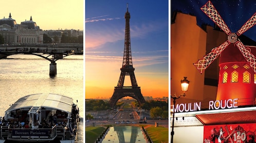
[[[138,86],[144,97],[169,95],[169,1],[85,2],[85,98],[111,98],[124,50],[126,3]],[[129,76],[124,86],[131,86]]]

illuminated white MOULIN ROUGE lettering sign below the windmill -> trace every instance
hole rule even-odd
[[[216,100],[209,101],[209,110],[217,110],[217,109],[230,109],[237,108],[238,99],[228,99],[228,100]],[[200,111],[201,110],[201,102],[197,103],[185,103],[185,104],[177,104],[174,109],[174,112],[191,112],[191,111]]]

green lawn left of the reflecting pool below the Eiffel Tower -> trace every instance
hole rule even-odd
[[[88,126],[85,128],[85,142],[94,143],[99,135],[105,130],[104,127]]]

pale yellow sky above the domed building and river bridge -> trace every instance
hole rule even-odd
[[[0,18],[8,18],[10,13],[17,24],[32,16],[42,30],[83,30],[84,26],[83,0],[1,1]]]

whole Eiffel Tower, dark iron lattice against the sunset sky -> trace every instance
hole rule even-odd
[[[123,64],[121,69],[121,74],[117,86],[114,89],[112,98],[109,100],[111,107],[114,107],[117,101],[124,97],[132,97],[136,99],[139,104],[145,102],[143,98],[140,87],[138,87],[132,62],[132,52],[131,52],[131,38],[130,38],[130,13],[127,11],[124,15],[125,18],[125,37],[124,37],[124,52],[123,52]],[[125,76],[130,76],[132,86],[123,86]]]

